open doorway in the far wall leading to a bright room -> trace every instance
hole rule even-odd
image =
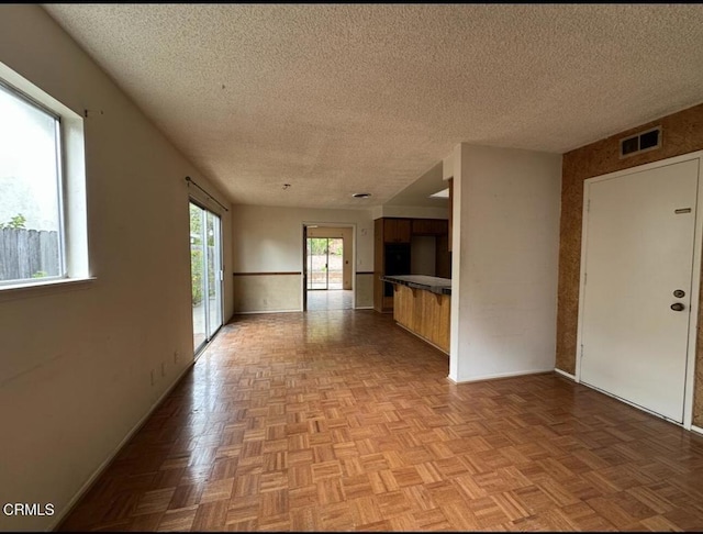
[[[303,310],[354,308],[353,229],[303,226]]]

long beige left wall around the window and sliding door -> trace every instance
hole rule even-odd
[[[97,279],[77,290],[0,297],[0,496],[56,510],[0,513],[0,530],[38,531],[56,524],[192,363],[185,176],[216,193],[38,5],[1,5],[0,35],[7,66],[81,115],[103,111],[85,122]],[[230,214],[223,223],[231,265]]]

